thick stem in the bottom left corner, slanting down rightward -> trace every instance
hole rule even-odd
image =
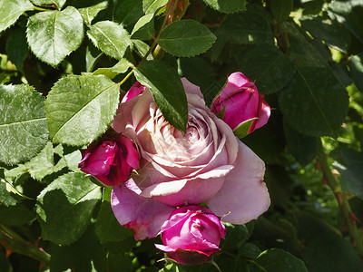
[[[0,241],[6,249],[10,249],[16,253],[23,254],[28,257],[33,257],[42,263],[45,267],[49,266],[50,255],[41,248],[25,241],[17,235],[12,229],[7,228],[5,225],[0,224]]]

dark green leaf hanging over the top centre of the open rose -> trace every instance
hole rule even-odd
[[[142,63],[134,69],[136,79],[149,88],[166,121],[177,130],[185,131],[188,104],[182,81],[169,64],[161,61]]]

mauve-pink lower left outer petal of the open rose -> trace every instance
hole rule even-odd
[[[138,193],[140,190],[132,179],[114,186],[111,195],[113,214],[121,225],[132,228],[136,240],[154,238],[175,208],[144,199]]]

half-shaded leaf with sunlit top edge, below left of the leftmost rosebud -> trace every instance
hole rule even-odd
[[[101,190],[83,173],[68,173],[54,180],[39,195],[36,213],[42,238],[69,245],[91,222]]]

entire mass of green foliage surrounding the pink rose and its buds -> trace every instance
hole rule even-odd
[[[160,237],[135,241],[78,163],[136,81],[185,131],[181,77],[209,107],[234,72],[270,104],[242,141],[271,204],[226,223],[213,261],[363,271],[362,14],[360,0],[0,1],[0,271],[218,271],[163,259]]]

